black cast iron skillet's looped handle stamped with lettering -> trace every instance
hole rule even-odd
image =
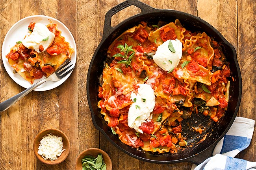
[[[115,15],[116,13],[118,13],[119,11],[121,11],[122,9],[125,9],[126,7],[129,7],[131,5],[134,5],[138,8],[141,9],[141,13],[140,14],[145,14],[148,12],[154,12],[157,9],[150,7],[147,4],[144,4],[143,2],[140,2],[138,0],[126,0],[118,5],[116,5],[115,7],[111,8],[105,15],[105,21],[104,21],[104,30],[103,30],[103,37],[102,39],[104,39],[106,37],[106,35],[109,35],[112,31],[115,30],[115,27],[111,26],[111,17],[113,15]]]

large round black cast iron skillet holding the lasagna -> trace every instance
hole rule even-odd
[[[111,27],[111,16],[130,5],[139,7],[141,9],[141,13],[122,21],[116,27]],[[213,37],[214,40],[221,43],[224,54],[230,62],[231,75],[234,77],[234,81],[231,79],[228,109],[219,122],[215,123],[210,121],[209,117],[203,116],[202,114],[193,115],[191,119],[183,121],[182,133],[186,135],[188,144],[194,143],[192,147],[179,151],[177,154],[153,154],[151,152],[137,150],[122,143],[118,139],[117,135],[114,135],[111,132],[100,114],[100,109],[97,107],[99,100],[97,98],[99,86],[98,77],[102,74],[103,61],[106,59],[108,46],[121,33],[133,26],[136,26],[141,21],[148,22],[149,24],[157,24],[159,20],[174,22],[175,19],[179,19],[186,29],[190,31],[204,31],[207,35]],[[236,58],[236,50],[214,27],[197,16],[169,9],[155,9],[137,0],[127,0],[113,7],[106,13],[102,40],[95,50],[88,70],[87,98],[94,126],[102,132],[115,147],[119,148],[124,153],[139,160],[151,163],[202,163],[205,159],[211,157],[213,148],[221,138],[224,137],[234,122],[241,101],[241,89],[241,73]],[[189,122],[189,126],[186,126],[186,121]],[[206,127],[206,132],[202,135],[191,130],[191,126],[199,124]],[[203,142],[199,142],[204,134],[207,134],[206,139]]]

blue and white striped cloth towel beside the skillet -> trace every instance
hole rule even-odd
[[[200,165],[193,165],[191,170],[256,170],[256,162],[234,158],[249,146],[254,124],[252,119],[236,117],[230,130],[216,145],[213,157]]]

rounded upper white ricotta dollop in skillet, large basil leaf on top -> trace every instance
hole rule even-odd
[[[173,48],[176,52],[171,52],[169,49],[169,42],[172,42]],[[176,68],[182,57],[182,43],[180,40],[167,40],[156,50],[156,54],[153,56],[154,62],[163,70],[170,71]]]

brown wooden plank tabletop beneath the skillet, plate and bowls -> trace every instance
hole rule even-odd
[[[242,73],[243,92],[238,116],[255,119],[256,103],[256,3],[254,0],[141,0],[160,9],[175,9],[209,22],[236,48]],[[189,170],[191,163],[158,165],[134,159],[117,148],[93,126],[87,104],[86,76],[98,46],[106,12],[122,0],[1,0],[0,42],[15,22],[31,15],[47,15],[63,22],[77,45],[76,68],[63,84],[48,91],[32,91],[1,113],[0,169],[74,170],[78,154],[87,148],[101,148],[112,159],[113,170]],[[112,18],[113,26],[140,9],[128,7]],[[2,55],[1,55],[2,56]],[[0,61],[0,102],[24,90],[7,74]],[[46,128],[58,128],[70,140],[67,159],[55,166],[37,160],[33,139]],[[256,135],[239,155],[256,161]]]

